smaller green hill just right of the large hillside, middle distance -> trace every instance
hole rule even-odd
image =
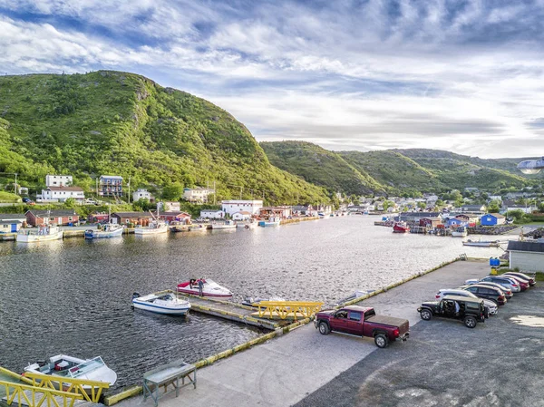
[[[339,154],[306,141],[261,142],[268,160],[276,167],[347,195],[384,190],[366,171],[356,169]]]

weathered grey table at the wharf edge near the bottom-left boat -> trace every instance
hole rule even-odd
[[[180,385],[181,379],[181,385]],[[187,379],[187,383],[186,382]],[[169,385],[173,389],[168,390]],[[143,401],[148,397],[153,399],[155,407],[159,405],[159,399],[170,392],[176,392],[176,397],[180,394],[180,388],[193,385],[197,388],[197,368],[194,364],[185,363],[181,360],[164,364],[150,372],[143,373]],[[164,392],[159,393],[160,386],[164,387]]]

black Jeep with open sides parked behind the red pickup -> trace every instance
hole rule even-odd
[[[417,311],[425,321],[429,321],[433,316],[457,319],[468,328],[474,328],[477,323],[485,322],[481,298],[444,296],[440,301],[424,302]]]

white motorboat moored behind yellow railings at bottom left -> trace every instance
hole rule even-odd
[[[24,368],[25,372],[51,374],[72,379],[96,380],[99,382],[110,383],[117,382],[117,373],[113,372],[102,357],[97,356],[92,359],[79,359],[66,354],[57,354],[49,358],[49,362],[38,361],[29,364]],[[91,386],[83,385],[83,390],[89,392]]]

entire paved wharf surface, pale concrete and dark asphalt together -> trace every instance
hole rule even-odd
[[[456,262],[367,300],[364,305],[380,314],[410,320],[406,343],[378,349],[372,339],[323,336],[306,325],[199,370],[196,390],[182,389],[178,398],[167,396],[160,405],[544,405],[537,386],[544,383],[544,330],[510,320],[542,316],[532,301],[542,304],[544,291],[514,296],[499,315],[473,330],[452,321],[421,321],[415,311],[440,288],[488,272],[485,262]],[[528,402],[518,402],[518,395]],[[152,402],[135,397],[120,404],[140,405]]]

